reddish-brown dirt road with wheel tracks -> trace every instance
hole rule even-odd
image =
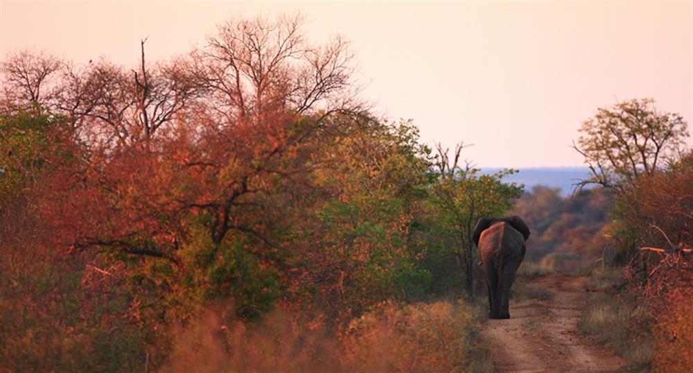
[[[523,281],[523,279],[518,279]],[[547,275],[532,281],[551,300],[511,302],[509,320],[488,320],[482,337],[498,372],[621,372],[624,363],[577,330],[588,277]]]

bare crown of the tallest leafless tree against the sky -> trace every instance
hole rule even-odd
[[[349,89],[353,55],[342,38],[308,44],[301,17],[231,20],[207,46],[191,53],[190,67],[209,89],[211,106],[226,125],[257,122],[268,113],[354,111]]]

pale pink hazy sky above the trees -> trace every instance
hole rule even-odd
[[[340,34],[363,96],[414,119],[429,144],[475,144],[479,166],[572,166],[599,105],[652,97],[693,119],[692,1],[228,3],[0,0],[0,55],[46,50],[75,62],[137,62],[204,43],[228,17],[301,12],[306,35]]]

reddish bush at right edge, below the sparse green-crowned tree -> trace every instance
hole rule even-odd
[[[631,274],[641,274],[638,300],[656,321],[654,367],[683,372],[693,364],[693,153],[635,180],[622,198],[643,246]]]

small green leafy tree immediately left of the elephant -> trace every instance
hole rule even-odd
[[[438,170],[432,174],[430,198],[423,207],[430,215],[419,220],[418,255],[421,267],[432,274],[435,293],[459,294],[466,287],[469,295],[473,291],[476,262],[471,234],[477,220],[506,214],[513,206],[512,200],[522,195],[524,186],[503,182],[514,170],[482,174],[478,168],[450,166],[447,155],[439,156]]]

